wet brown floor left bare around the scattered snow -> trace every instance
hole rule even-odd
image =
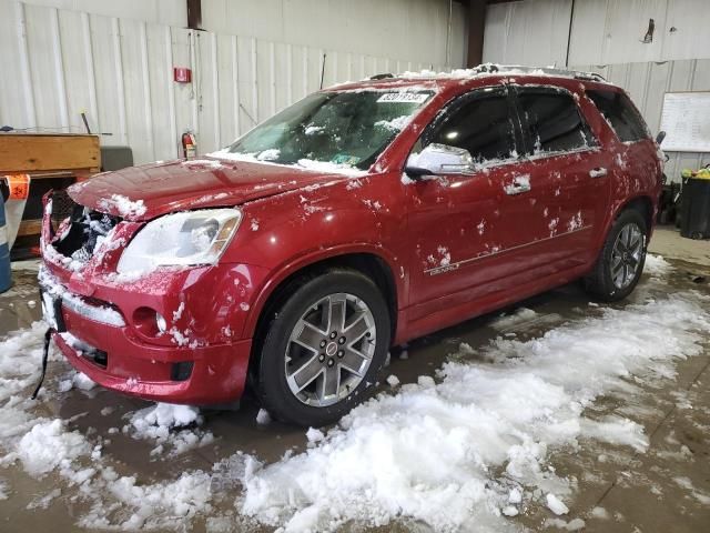
[[[661,229],[657,231],[651,251],[663,255],[676,269],[662,284],[645,276],[631,302],[682,290],[710,294],[710,242],[681,239],[674,231]],[[36,268],[32,262],[13,265],[14,286],[0,296],[0,338],[28,328],[39,319]],[[535,315],[515,323],[519,339],[540,335],[596,312],[576,284],[539,295],[523,305],[534,310]],[[387,372],[396,374],[403,383],[416,382],[422,374],[433,374],[459,343],[466,342],[475,349],[505,334],[506,328],[495,322],[498,314],[470,320],[410,343],[408,359],[393,356]],[[598,414],[622,414],[642,424],[650,441],[646,452],[596,443],[552,454],[550,460],[556,471],[577,480],[570,496],[570,515],[584,517],[584,531],[710,531],[710,340],[704,346],[703,354],[680,361],[677,375],[666,380],[662,388],[639,385],[632,401],[611,394],[591,408]],[[67,371],[65,363],[53,362],[48,379],[58,379]],[[381,388],[386,390],[387,385]],[[126,413],[146,405],[146,402],[95,388],[72,390],[65,401],[43,409],[48,410],[45,416],[70,420],[69,429],[110,435],[103,454],[111,459],[116,470],[151,480],[173,479],[187,470],[212,469],[216,461],[236,451],[254,454],[262,461],[276,461],[290,450],[303,450],[307,443],[302,429],[277,422],[257,424],[258,408],[247,398],[239,411],[204,413],[203,429],[214,434],[214,442],[175,459],[155,459],[150,453],[154,447],[152,443],[110,431],[125,424]],[[9,465],[0,469],[0,476],[12,487],[9,497],[0,500],[0,531],[87,531],[75,525],[84,511],[82,504],[71,497],[71,491],[65,490],[63,482],[53,474],[38,481],[20,466]],[[41,497],[57,489],[62,495],[52,499],[43,509]],[[597,510],[592,511],[595,507]],[[233,507],[231,511],[215,510],[215,513],[217,511],[221,515],[234,512]],[[541,506],[526,509],[511,522],[532,531],[562,531],[558,529],[560,524],[555,523],[555,516]],[[192,526],[194,531],[210,529],[204,519],[196,520]],[[572,524],[567,527],[572,529]],[[426,531],[410,523],[389,525],[379,531],[413,529]],[[253,530],[250,527],[250,531]]]

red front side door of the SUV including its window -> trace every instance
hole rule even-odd
[[[474,172],[405,185],[412,321],[508,290],[526,269],[517,260],[519,245],[539,237],[526,223],[535,183],[518,168],[519,121],[505,87],[475,90],[449,104],[414,152],[430,143],[464,148],[476,164]]]

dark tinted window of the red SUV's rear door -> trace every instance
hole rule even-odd
[[[520,89],[518,105],[535,153],[564,152],[596,144],[571,94]]]

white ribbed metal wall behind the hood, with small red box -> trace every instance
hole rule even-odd
[[[324,87],[444,69],[385,51],[326,50],[0,0],[0,123],[83,132],[85,111],[102,143],[130,145],[136,163],[175,158],[187,128],[205,153],[317,90],[324,54]],[[193,83],[174,83],[173,66],[192,67]]]

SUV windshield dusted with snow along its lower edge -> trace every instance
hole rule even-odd
[[[367,169],[429,99],[432,91],[318,92],[257,125],[215,155],[310,161]]]

